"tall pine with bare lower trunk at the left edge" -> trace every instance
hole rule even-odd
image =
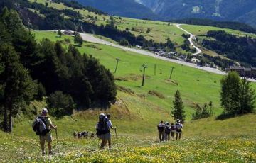
[[[4,85],[4,130],[12,132],[12,117],[18,109],[28,104],[36,94],[36,83],[32,81],[28,70],[19,61],[18,55],[11,45],[2,45],[0,61],[4,64],[0,84]],[[9,128],[7,111],[9,111]]]

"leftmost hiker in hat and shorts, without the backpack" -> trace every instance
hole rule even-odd
[[[40,141],[41,141],[41,150],[42,150],[42,154],[45,155],[45,142],[48,143],[48,154],[53,154],[52,151],[52,147],[51,147],[51,142],[53,141],[53,137],[50,133],[50,129],[55,129],[57,128],[57,125],[53,125],[53,123],[51,122],[50,118],[48,117],[48,110],[47,108],[43,108],[41,116],[39,116],[38,118],[41,118],[41,120],[44,121],[45,125],[46,125],[46,129],[48,129],[48,132],[46,133],[46,135],[40,135]]]

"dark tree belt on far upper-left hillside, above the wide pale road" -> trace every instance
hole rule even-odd
[[[19,4],[18,9],[14,2]],[[143,35],[135,36],[129,31],[118,30],[117,27],[114,26],[114,19],[112,16],[110,16],[110,23],[106,26],[97,26],[95,23],[82,21],[80,13],[70,9],[57,10],[36,2],[30,3],[27,0],[4,0],[4,2],[1,3],[0,9],[3,5],[7,5],[9,6],[9,9],[16,9],[19,11],[18,13],[21,15],[23,23],[28,28],[39,30],[68,29],[78,32],[93,33],[112,38],[112,40],[117,42],[125,39],[128,41],[129,45],[140,45],[142,48],[155,47],[156,49],[161,48],[166,49],[167,51],[175,51],[176,48],[176,44],[172,43],[170,39],[167,39],[166,43],[156,43],[152,39],[146,40]],[[38,10],[44,17],[39,16],[38,13],[32,12],[27,8]],[[65,13],[65,15],[70,18],[64,18],[61,13]]]

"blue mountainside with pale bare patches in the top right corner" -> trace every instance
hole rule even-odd
[[[212,18],[256,26],[254,0],[136,0],[165,19]]]

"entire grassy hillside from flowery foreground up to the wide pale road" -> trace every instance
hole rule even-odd
[[[38,41],[42,38],[60,40],[65,47],[68,44],[63,41],[64,38],[73,40],[66,35],[59,38],[54,32],[32,33]],[[31,129],[33,117],[19,115],[14,120],[14,133],[0,132],[0,162],[255,162],[256,115],[215,120],[215,116],[222,112],[220,75],[107,45],[84,43],[78,49],[97,57],[112,72],[115,59],[121,59],[114,77],[116,84],[125,89],[118,91],[117,103],[107,110],[95,108],[61,119],[52,118],[53,123],[58,125],[60,154],[50,157],[41,157],[38,137]],[[139,87],[142,64],[147,64],[148,68],[145,85]],[[171,67],[175,67],[174,73],[168,80]],[[252,86],[255,88],[255,84]],[[187,114],[183,138],[181,141],[159,143],[156,125],[159,120],[174,122],[170,112],[177,89],[181,91]],[[162,94],[164,99],[148,94],[149,91]],[[191,120],[193,106],[208,101],[213,101],[215,115]],[[45,106],[45,102],[34,101],[30,109],[36,108],[39,113]],[[112,150],[98,150],[100,142],[97,139],[73,139],[74,130],[95,132],[99,113],[111,113],[112,123],[117,125],[118,139],[113,134]],[[53,148],[56,152],[56,137]]]

